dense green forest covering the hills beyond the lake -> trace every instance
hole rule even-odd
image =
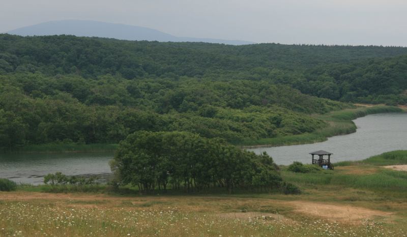
[[[187,131],[239,144],[327,126],[346,102],[407,103],[407,48],[0,35],[0,145]]]

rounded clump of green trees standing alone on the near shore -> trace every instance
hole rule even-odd
[[[255,155],[219,138],[188,132],[136,132],[120,143],[111,162],[119,185],[140,191],[234,188],[298,192],[282,181],[266,153]]]

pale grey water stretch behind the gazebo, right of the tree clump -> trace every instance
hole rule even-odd
[[[354,120],[357,132],[335,136],[327,141],[304,145],[285,145],[248,149],[256,154],[267,152],[277,164],[293,161],[311,162],[308,153],[331,152],[331,161],[363,160],[394,150],[407,150],[407,113],[380,113]]]

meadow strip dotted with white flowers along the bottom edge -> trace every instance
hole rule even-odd
[[[395,225],[371,220],[336,221],[267,216],[222,218],[216,213],[185,212],[173,206],[144,209],[69,206],[57,201],[0,202],[0,236],[406,236]]]

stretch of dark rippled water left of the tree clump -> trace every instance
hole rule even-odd
[[[17,183],[41,184],[47,173],[109,174],[113,153],[1,154],[0,177]]]

